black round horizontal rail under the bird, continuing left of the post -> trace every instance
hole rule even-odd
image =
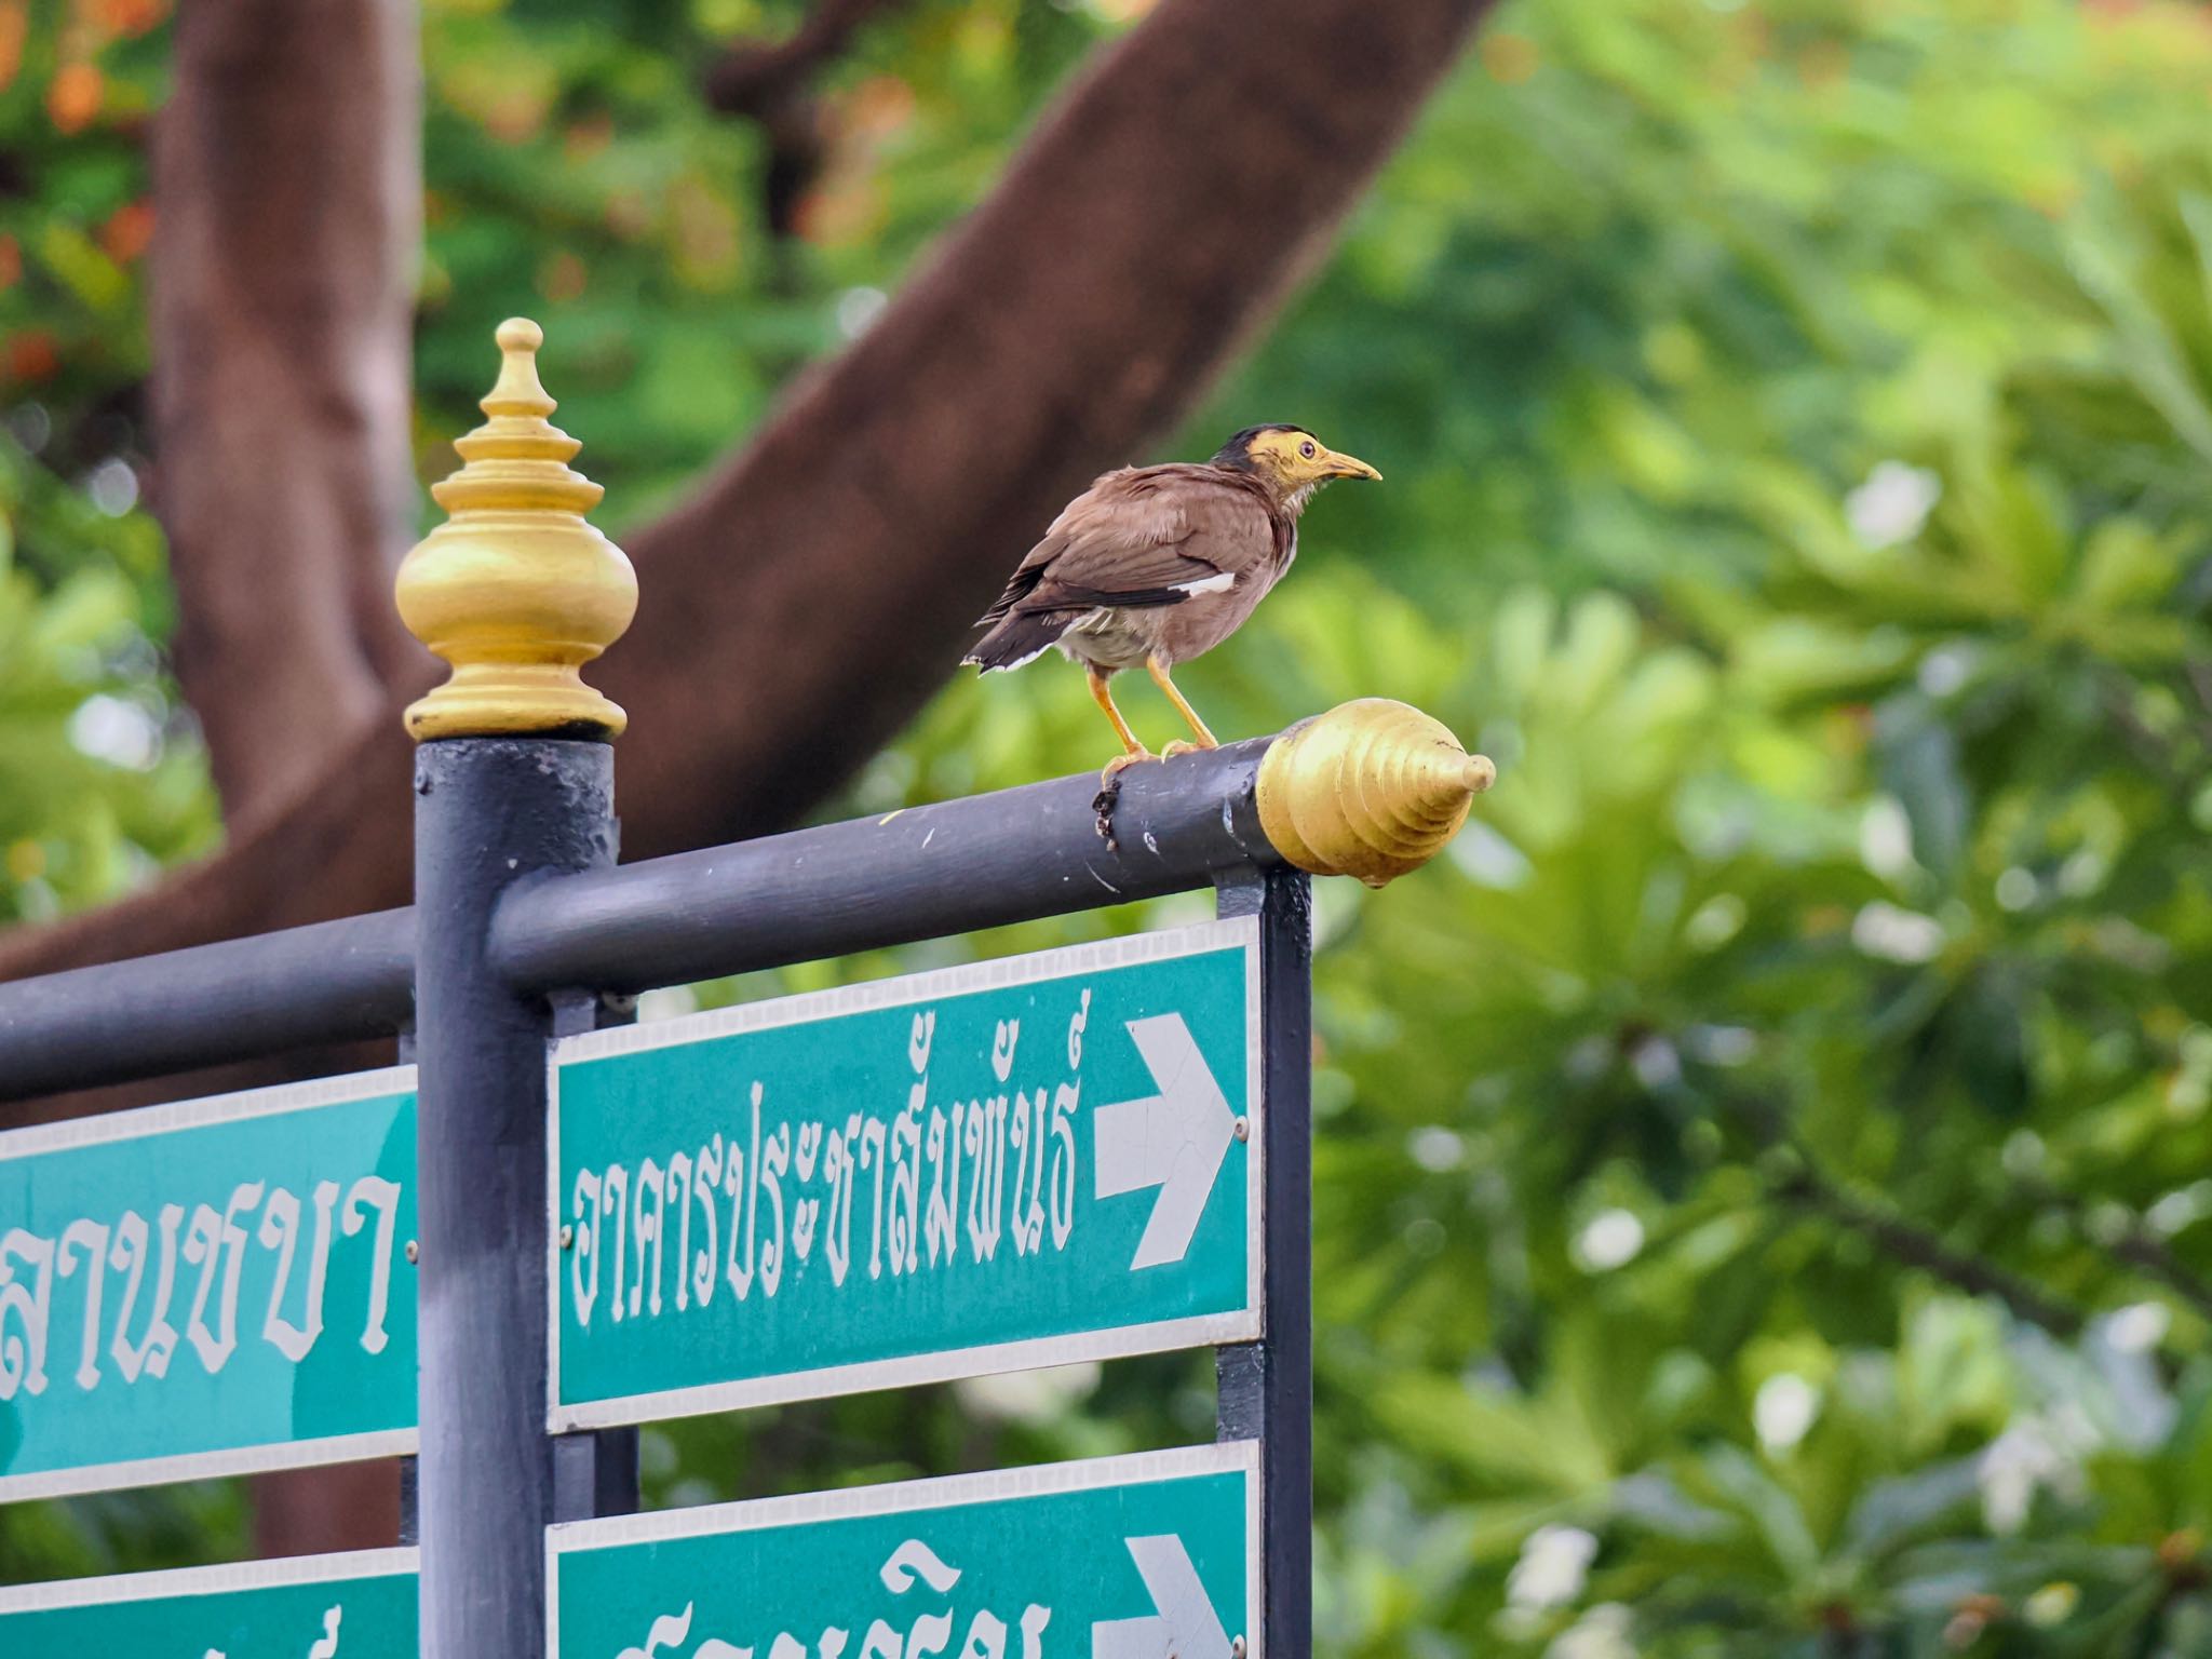
[[[1256,779],[1274,739],[549,876],[500,905],[520,991],[628,993],[1188,891],[1276,865]],[[0,1099],[392,1035],[414,1015],[414,909],[0,984]]]

